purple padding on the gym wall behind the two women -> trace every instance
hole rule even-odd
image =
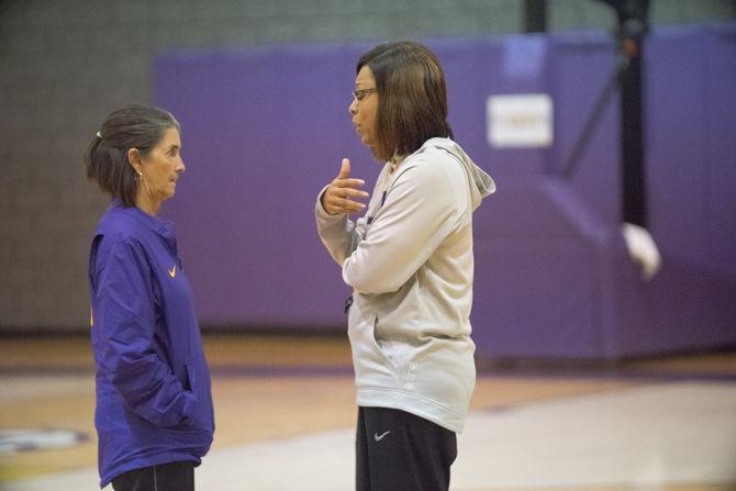
[[[576,176],[558,177],[613,67],[609,36],[427,41],[445,67],[456,140],[499,185],[473,219],[479,354],[620,358],[736,343],[735,37],[728,23],[648,40],[650,222],[665,256],[649,283],[618,232],[617,100]],[[344,326],[349,290],[313,204],[343,157],[369,187],[378,172],[347,114],[369,47],[158,56],[155,100],[181,121],[188,164],[165,213],[205,327]],[[488,96],[539,91],[555,101],[554,145],[491,148]]]

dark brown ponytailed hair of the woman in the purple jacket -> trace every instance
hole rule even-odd
[[[146,155],[170,127],[179,129],[179,122],[159,108],[129,104],[113,111],[85,152],[87,179],[123,205],[134,207],[138,180],[127,160],[127,150],[137,148]]]

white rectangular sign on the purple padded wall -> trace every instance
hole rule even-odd
[[[493,147],[548,147],[553,143],[551,98],[546,93],[490,96],[486,125]]]

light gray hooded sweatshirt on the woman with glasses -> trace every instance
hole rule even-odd
[[[317,199],[320,238],[353,287],[358,405],[462,431],[476,384],[472,211],[494,190],[457,143],[431,138],[393,172],[383,167],[357,222]]]

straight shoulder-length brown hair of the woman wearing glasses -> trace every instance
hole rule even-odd
[[[411,154],[434,136],[453,137],[445,74],[426,46],[414,41],[379,44],[360,57],[356,74],[366,65],[379,94],[376,158]]]

